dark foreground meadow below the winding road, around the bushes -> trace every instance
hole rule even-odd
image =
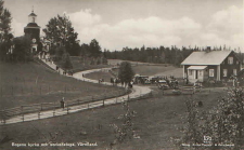
[[[192,96],[203,101],[201,109],[209,109],[217,104],[217,98],[223,94],[221,90],[211,90],[197,93]],[[131,110],[137,111],[132,119],[133,129],[140,138],[132,138],[124,144],[116,145],[118,149],[176,149],[169,141],[170,137],[179,137],[181,133],[176,129],[182,126],[181,117],[185,113],[185,99],[190,95],[162,96],[155,88],[153,97],[130,101]],[[124,114],[121,105],[107,106],[56,117],[34,122],[24,122],[0,126],[0,139],[5,135],[13,138],[4,142],[0,149],[13,149],[11,142],[97,142],[98,147],[42,147],[36,149],[110,149],[110,142],[115,139],[113,127],[110,125],[120,124],[118,117]],[[18,148],[33,150],[34,148]]]

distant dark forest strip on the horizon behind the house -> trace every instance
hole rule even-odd
[[[124,47],[123,51],[114,51],[111,52],[108,50],[104,50],[104,56],[108,59],[123,59],[123,60],[132,60],[132,62],[142,62],[142,63],[153,63],[153,64],[172,64],[179,66],[192,52],[196,51],[207,51],[209,47],[177,47],[171,46],[159,46],[159,47]],[[214,47],[213,51],[222,51],[227,50]],[[243,55],[237,53],[240,58],[243,59]]]

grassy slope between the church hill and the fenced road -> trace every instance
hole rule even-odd
[[[0,109],[101,95],[121,88],[78,81],[43,66],[0,64]]]

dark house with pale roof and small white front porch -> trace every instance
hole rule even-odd
[[[181,65],[189,82],[228,80],[241,70],[241,62],[233,51],[192,52]]]

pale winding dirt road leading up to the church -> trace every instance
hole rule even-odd
[[[53,68],[55,70],[54,64],[51,64],[51,63],[46,63],[46,64],[49,65],[51,68]],[[103,69],[110,69],[110,68],[103,68]],[[101,71],[103,69],[92,69],[92,70],[86,70],[86,71],[77,72],[77,73],[74,73],[73,78],[75,78],[77,80],[87,81],[87,82],[98,83],[97,80],[91,80],[91,79],[88,79],[88,78],[85,78],[85,77],[86,77],[87,73]],[[62,74],[63,70],[60,70],[60,73]],[[107,82],[102,82],[100,84],[112,85],[111,83],[107,83]],[[91,108],[98,108],[98,107],[103,107],[103,106],[107,106],[107,105],[123,103],[123,101],[127,100],[128,97],[130,97],[131,99],[132,98],[140,98],[141,96],[147,95],[150,93],[151,93],[151,88],[149,88],[149,87],[133,85],[132,93],[130,93],[129,95],[124,95],[124,96],[115,97],[115,98],[108,98],[108,99],[105,99],[105,100],[100,100],[100,101],[94,101],[94,103],[91,101],[89,104],[72,106],[72,107],[68,107],[68,108],[65,108],[65,109],[59,108],[59,109],[54,109],[54,110],[47,110],[47,111],[41,111],[41,112],[28,113],[28,114],[24,114],[24,115],[16,115],[16,117],[13,117],[13,118],[8,119],[5,121],[1,121],[0,125],[13,124],[13,123],[26,122],[26,121],[34,121],[34,120],[39,120],[39,119],[53,118],[53,117],[57,117],[57,115],[64,115],[64,114],[68,114],[68,113],[78,112],[78,111],[81,111],[81,110],[87,110],[87,109],[91,109]]]

